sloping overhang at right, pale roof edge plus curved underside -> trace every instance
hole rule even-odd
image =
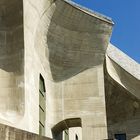
[[[112,44],[106,52],[106,71],[120,88],[140,99],[140,65]]]

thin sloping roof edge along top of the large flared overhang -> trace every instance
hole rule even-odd
[[[68,4],[70,4],[74,8],[84,12],[85,14],[88,14],[90,16],[93,16],[93,17],[98,18],[98,19],[100,19],[102,21],[105,21],[105,22],[107,22],[109,24],[114,25],[114,22],[112,21],[112,19],[110,17],[107,17],[107,16],[105,16],[103,14],[100,14],[100,13],[98,13],[96,11],[93,11],[91,9],[88,9],[88,8],[84,7],[84,6],[81,6],[81,5],[73,2],[72,0],[63,0],[63,1],[68,3]]]

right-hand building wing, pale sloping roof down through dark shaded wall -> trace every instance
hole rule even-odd
[[[140,67],[109,45],[106,54],[105,93],[109,138],[126,133],[128,140],[140,138]]]

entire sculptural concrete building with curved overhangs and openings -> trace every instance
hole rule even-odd
[[[140,65],[112,28],[71,1],[0,0],[0,140],[140,140]]]

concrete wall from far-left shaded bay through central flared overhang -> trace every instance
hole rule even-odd
[[[41,74],[46,136],[79,117],[83,139],[107,138],[103,62],[112,21],[64,0],[1,2],[1,122],[39,133]]]

